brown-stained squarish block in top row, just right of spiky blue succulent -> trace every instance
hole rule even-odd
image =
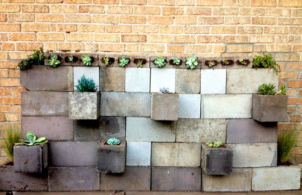
[[[100,67],[100,91],[125,91],[125,68]]]

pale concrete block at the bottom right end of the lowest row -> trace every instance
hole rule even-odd
[[[254,191],[300,189],[300,168],[278,166],[253,168]]]

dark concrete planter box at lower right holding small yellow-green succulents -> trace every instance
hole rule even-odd
[[[233,149],[223,144],[225,148],[210,148],[201,144],[201,168],[208,175],[230,175],[233,167]]]

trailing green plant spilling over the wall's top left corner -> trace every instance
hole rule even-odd
[[[26,70],[32,65],[44,65],[45,55],[42,47],[40,47],[39,50],[34,49],[33,51],[34,51],[33,54],[28,55],[26,59],[22,59],[18,63],[18,66],[20,67],[21,70]]]

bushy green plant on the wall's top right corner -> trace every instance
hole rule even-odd
[[[261,55],[255,55],[253,60],[253,67],[258,68],[269,68],[273,69],[276,73],[280,73],[280,65],[276,63],[273,58],[273,55],[270,53]]]

